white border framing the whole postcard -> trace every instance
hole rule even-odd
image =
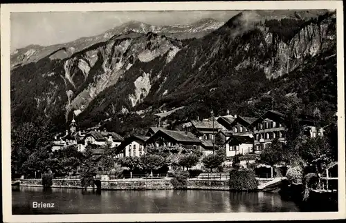
[[[155,11],[155,10],[300,10],[336,9],[338,62],[338,176],[339,211],[335,213],[172,213],[12,215],[10,187],[10,12]],[[1,130],[4,222],[138,222],[215,220],[327,220],[345,215],[345,97],[343,66],[343,1],[251,1],[251,2],[165,2],[165,3],[46,3],[1,5]]]

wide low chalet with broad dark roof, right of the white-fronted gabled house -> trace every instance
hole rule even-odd
[[[201,148],[201,140],[188,131],[158,130],[146,142],[149,146],[174,146],[181,144],[185,148]]]

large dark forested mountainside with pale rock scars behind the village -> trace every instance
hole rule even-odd
[[[51,52],[12,69],[12,123],[46,117],[64,127],[75,113],[84,128],[129,133],[156,124],[161,110],[183,107],[161,119],[173,122],[208,117],[211,109],[256,116],[291,104],[308,113],[318,107],[329,119],[336,111],[335,12],[288,14],[239,12],[197,39],[134,31],[131,22],[70,56]]]

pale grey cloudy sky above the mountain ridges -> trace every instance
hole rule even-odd
[[[189,24],[212,18],[228,21],[237,11],[12,12],[11,51],[30,44],[50,46],[99,35],[127,21],[152,25]]]

